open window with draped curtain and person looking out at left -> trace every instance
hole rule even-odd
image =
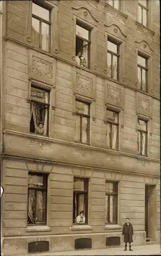
[[[30,133],[48,135],[49,92],[31,87]]]

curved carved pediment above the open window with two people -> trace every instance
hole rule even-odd
[[[97,26],[97,24],[99,23],[99,20],[97,20],[93,14],[91,14],[91,12],[85,8],[85,7],[72,7],[72,10],[74,12],[74,14],[76,16],[78,16],[79,18],[85,19],[87,22]]]

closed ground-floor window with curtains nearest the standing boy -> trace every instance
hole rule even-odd
[[[106,182],[105,223],[118,222],[118,183]]]

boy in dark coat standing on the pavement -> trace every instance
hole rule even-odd
[[[129,250],[131,249],[131,243],[133,242],[133,226],[130,223],[130,219],[126,218],[126,223],[123,225],[123,231],[122,234],[124,236],[124,242],[125,242],[125,249],[124,251],[127,251],[127,243],[129,243]]]

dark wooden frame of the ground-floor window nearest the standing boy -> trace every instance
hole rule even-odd
[[[111,192],[111,193],[108,193],[105,191],[105,196],[113,196],[113,195],[116,195],[116,209],[115,209],[115,212],[116,212],[116,222],[107,222],[105,220],[105,224],[106,225],[109,225],[109,224],[118,224],[118,182],[116,181],[109,181],[109,180],[106,180],[106,183],[112,183],[112,184],[116,184],[116,192]],[[110,202],[108,202],[110,203]],[[106,210],[106,209],[105,209]],[[113,214],[113,212],[112,212]],[[110,216],[110,208],[108,208],[108,216]]]

